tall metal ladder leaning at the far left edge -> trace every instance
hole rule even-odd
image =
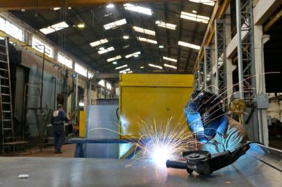
[[[0,44],[0,112],[1,112],[1,136],[2,153],[10,146],[7,143],[15,142],[13,126],[12,94],[10,85],[10,65],[8,54],[8,37],[5,44]],[[15,147],[13,146],[13,149]]]

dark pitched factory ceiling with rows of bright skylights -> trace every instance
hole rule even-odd
[[[67,28],[46,34],[46,37],[101,73],[118,73],[120,69],[116,68],[124,65],[134,73],[192,73],[199,53],[198,46],[201,46],[208,25],[201,16],[210,17],[213,6],[194,0],[131,3],[131,6],[139,8],[137,10],[130,10],[124,3],[113,5],[66,5],[58,10],[35,8],[10,12],[36,30],[65,21]],[[142,8],[150,9],[151,14],[142,12]],[[196,15],[195,20],[184,19],[181,12]],[[126,24],[106,29],[106,24],[122,19],[126,19]],[[79,28],[80,24],[84,27]],[[168,24],[175,25],[175,29],[173,25],[167,28]],[[140,32],[140,28],[147,30],[141,29],[143,32]],[[108,42],[90,46],[91,42],[101,39]],[[185,42],[184,45],[179,45],[179,41]],[[103,48],[111,50],[100,53]],[[140,54],[126,57],[139,51]],[[108,62],[114,57],[117,58]],[[167,57],[172,60],[167,60]]]

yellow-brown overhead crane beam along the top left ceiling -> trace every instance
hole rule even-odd
[[[105,3],[140,3],[157,2],[156,0],[0,0],[0,10],[28,10],[28,9],[49,9],[54,7],[70,6],[99,6]],[[159,1],[158,1],[159,2]]]

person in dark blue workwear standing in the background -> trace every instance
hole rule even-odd
[[[57,110],[53,112],[53,117],[51,120],[51,124],[53,125],[55,153],[63,153],[61,149],[65,142],[64,121],[69,122],[69,119],[63,110],[63,105],[58,105]]]

